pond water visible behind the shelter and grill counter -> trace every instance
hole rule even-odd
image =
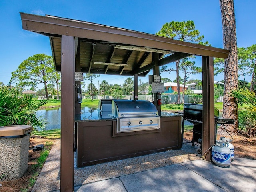
[[[37,116],[45,119],[45,121],[47,122],[46,130],[60,129],[60,111],[61,111],[60,108],[41,109],[41,110],[38,110],[36,114]],[[162,115],[172,115],[172,113],[162,112]],[[81,120],[91,120],[91,119],[99,119],[100,116],[98,114],[97,108],[82,107],[81,116],[79,115],[76,118]],[[185,121],[185,125],[191,125],[191,123]]]

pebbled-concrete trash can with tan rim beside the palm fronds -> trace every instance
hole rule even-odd
[[[22,177],[28,168],[29,125],[0,127],[0,181]]]

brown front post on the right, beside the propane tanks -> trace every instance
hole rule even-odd
[[[214,68],[213,58],[202,56],[202,86],[203,86],[203,132],[202,154],[214,145]],[[206,152],[206,161],[211,159],[211,152]]]

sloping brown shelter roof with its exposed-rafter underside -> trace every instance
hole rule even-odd
[[[146,76],[152,53],[159,66],[190,55],[227,58],[229,51],[162,36],[56,16],[20,13],[25,30],[49,36],[55,69],[61,68],[61,36],[74,36],[81,71],[95,74]]]

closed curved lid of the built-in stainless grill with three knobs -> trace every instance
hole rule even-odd
[[[147,100],[112,100],[112,115],[126,116],[156,116],[156,106]]]

